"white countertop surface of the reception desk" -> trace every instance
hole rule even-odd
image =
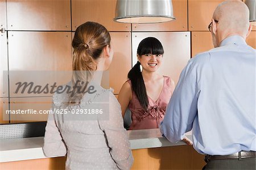
[[[158,128],[133,130],[127,131],[127,133],[129,135],[131,150],[185,145],[184,142],[169,142],[166,138],[162,137]],[[192,138],[191,132],[188,132],[186,135],[189,139]],[[0,140],[0,163],[46,158],[43,153],[43,138],[44,137]]]

